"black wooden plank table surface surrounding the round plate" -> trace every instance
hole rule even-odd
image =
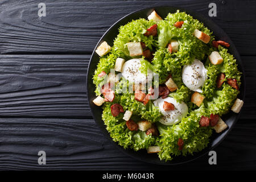
[[[255,169],[256,1],[42,1],[0,2],[0,169]],[[144,163],[122,153],[92,119],[86,72],[98,40],[118,19],[154,6],[180,6],[210,17],[240,52],[246,99],[240,119],[208,155],[177,166]],[[46,165],[38,152],[46,151]]]

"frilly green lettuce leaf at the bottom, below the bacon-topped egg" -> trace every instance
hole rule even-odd
[[[193,154],[203,150],[209,143],[209,137],[212,134],[210,127],[199,127],[201,115],[209,116],[207,109],[202,105],[199,109],[183,118],[177,125],[171,127],[159,128],[161,131],[160,139],[157,144],[160,147],[158,153],[161,160],[172,160],[176,155]],[[183,139],[183,150],[179,150],[177,142],[179,138]]]

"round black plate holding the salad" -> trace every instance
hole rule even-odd
[[[218,27],[216,23],[214,23],[212,20],[205,17],[204,15],[197,13],[196,11],[185,10],[185,9],[179,8],[179,7],[168,7],[168,6],[147,8],[147,9],[135,11],[134,13],[131,13],[131,14],[126,15],[125,17],[119,19],[118,22],[116,22],[112,27],[110,27],[109,30],[106,31],[106,33],[102,36],[102,38],[98,42],[96,48],[103,41],[106,41],[106,42],[108,42],[108,44],[110,46],[113,46],[113,41],[114,41],[115,37],[118,35],[118,28],[120,26],[125,25],[126,23],[130,22],[133,19],[139,19],[139,18],[147,19],[147,16],[151,14],[152,10],[156,10],[156,12],[162,18],[165,18],[168,13],[175,13],[176,10],[184,11],[185,13],[192,15],[193,18],[196,18],[196,19],[200,20],[200,22],[203,22],[205,27],[208,27],[210,29],[210,31],[213,32],[213,35],[216,36],[217,40],[224,40],[225,42],[228,42],[230,44],[229,53],[232,53],[234,55],[234,57],[237,59],[238,68],[243,73],[242,78],[241,78],[242,84],[240,87],[240,95],[238,96],[238,98],[240,98],[243,101],[245,100],[244,99],[245,98],[245,72],[244,72],[244,69],[242,66],[242,61],[241,61],[240,55],[239,55],[236,47],[230,40],[229,36],[226,35],[226,33],[220,27]],[[93,84],[93,75],[94,75],[94,71],[96,70],[97,64],[99,61],[99,56],[95,52],[95,49],[92,53],[92,57],[90,58],[90,63],[89,63],[89,68],[88,68],[88,73],[87,73],[86,85],[87,85],[88,102],[89,102],[90,108],[92,110],[94,121],[100,127],[100,129],[105,134],[105,136],[113,142],[108,131],[106,130],[106,126],[104,125],[104,122],[101,119],[101,115],[102,115],[101,107],[94,105],[92,102],[93,99],[96,97],[95,93],[94,93],[95,85]],[[118,143],[116,143],[116,142],[113,142],[113,143],[125,154],[131,156],[132,158],[141,160],[143,162],[153,163],[153,164],[163,164],[163,165],[181,164],[181,163],[189,162],[191,160],[195,160],[195,159],[199,158],[200,156],[203,156],[204,154],[213,150],[213,148],[216,147],[218,144],[220,144],[221,141],[226,137],[226,135],[228,135],[228,133],[230,132],[230,130],[236,123],[238,117],[239,117],[239,114],[233,113],[232,111],[230,111],[229,114],[224,115],[222,117],[222,119],[224,119],[224,121],[228,125],[228,129],[226,129],[221,134],[216,134],[213,132],[213,135],[210,139],[210,143],[208,144],[208,147],[204,148],[203,151],[195,152],[193,155],[176,156],[176,157],[174,157],[173,160],[168,161],[168,162],[160,160],[158,158],[157,154],[147,154],[146,150],[141,150],[141,151],[137,151],[137,152],[135,152],[134,150],[131,150],[131,149],[125,150],[122,146],[119,146]]]

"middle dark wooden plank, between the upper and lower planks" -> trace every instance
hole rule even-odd
[[[0,55],[1,117],[92,118],[86,96],[90,55]],[[242,119],[254,119],[255,56],[242,56],[246,100]]]

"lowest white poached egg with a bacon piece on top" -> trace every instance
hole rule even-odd
[[[164,101],[169,102],[174,105],[174,110],[164,110],[163,104]],[[159,107],[160,112],[163,114],[163,117],[160,119],[160,123],[163,125],[174,125],[176,123],[179,123],[183,117],[185,117],[188,114],[188,106],[185,104],[185,102],[181,101],[181,103],[177,102],[172,97],[167,98],[158,98],[154,101],[154,105],[156,107]]]

